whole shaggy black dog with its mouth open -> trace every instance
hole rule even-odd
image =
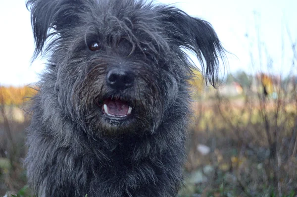
[[[43,197],[177,197],[197,54],[224,54],[206,21],[145,0],[28,0],[46,72],[32,100],[28,180]],[[205,66],[203,66],[205,65]]]

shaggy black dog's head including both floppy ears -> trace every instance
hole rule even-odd
[[[86,131],[153,132],[171,115],[171,106],[189,99],[191,64],[183,48],[196,52],[202,66],[204,59],[206,79],[216,81],[223,48],[214,30],[179,9],[142,0],[29,0],[27,5],[35,57],[49,41],[56,98]]]

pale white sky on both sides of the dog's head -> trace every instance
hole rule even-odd
[[[285,27],[296,42],[297,0],[158,1],[176,3],[188,14],[212,24],[224,47],[234,54],[228,55],[229,72],[266,70],[266,66],[252,69],[250,64],[249,51],[256,53],[256,24],[260,26],[259,35],[267,53],[273,59],[274,66],[270,71],[289,72],[293,53]],[[44,65],[40,60],[30,65],[33,51],[30,12],[25,0],[0,0],[0,85],[22,86],[38,80],[37,73],[42,72]]]

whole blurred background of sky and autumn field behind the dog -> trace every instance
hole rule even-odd
[[[297,1],[157,2],[209,21],[229,51],[217,89],[195,71],[180,196],[297,197]],[[0,197],[28,197],[26,103],[46,60],[30,62],[25,0],[1,0],[0,24]]]

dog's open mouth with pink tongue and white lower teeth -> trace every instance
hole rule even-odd
[[[104,99],[102,110],[109,117],[126,118],[131,115],[132,107],[124,100]]]

